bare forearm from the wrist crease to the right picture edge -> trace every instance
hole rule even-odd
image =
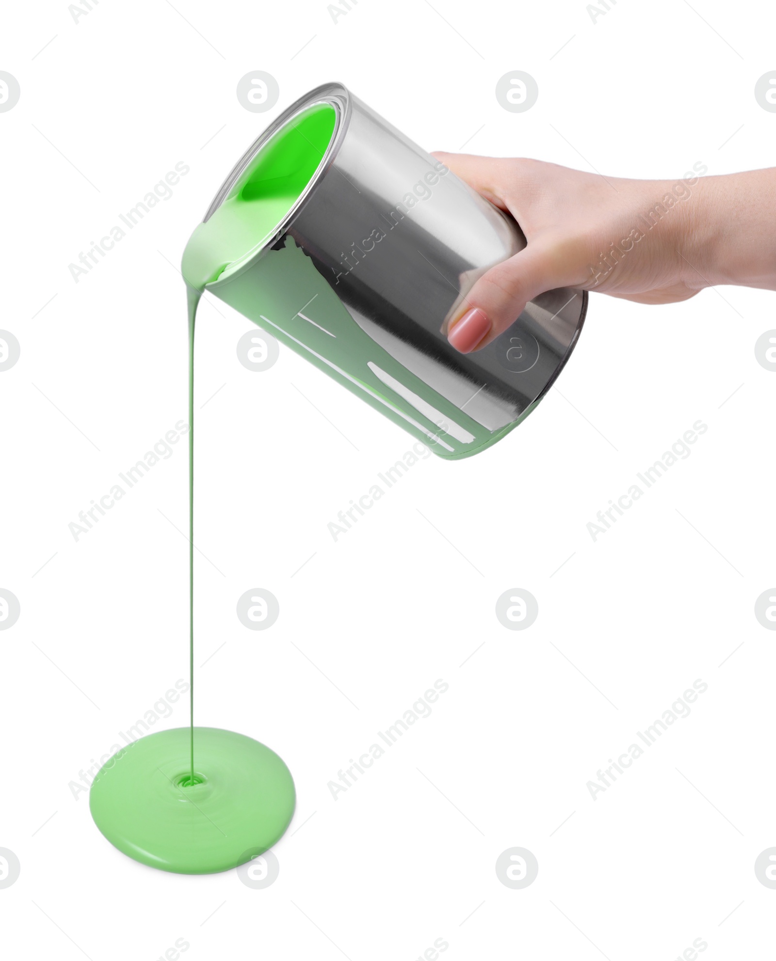
[[[690,288],[734,283],[776,290],[776,168],[702,178],[677,249]]]

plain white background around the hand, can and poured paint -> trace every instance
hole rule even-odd
[[[450,959],[619,961],[702,938],[710,959],[766,956],[776,891],[753,866],[776,845],[776,634],[754,603],[776,581],[776,375],[754,343],[776,327],[772,293],[591,295],[524,425],[422,460],[337,543],[327,524],[413,438],[285,349],[246,370],[251,325],[206,298],[197,720],[294,775],[265,890],[133,862],[68,787],[187,676],[185,444],[78,542],[67,526],[186,417],[176,265],[233,163],[306,90],[341,81],[429,150],[725,173],[773,162],[754,85],[776,68],[775,21],[713,0],[620,0],[594,23],[582,0],[361,0],[336,22],[323,0],[9,9],[0,326],[21,357],[0,374],[0,586],[21,616],[0,633],[0,847],[21,875],[0,891],[4,953],[140,961],[185,938],[192,961],[410,961],[443,938]],[[238,103],[251,70],[280,85],[268,113]],[[530,111],[495,99],[511,70],[537,79]],[[68,264],[179,160],[173,197],[75,283]],[[594,543],[588,521],[698,419],[691,456]],[[235,612],[257,586],[281,605],[263,632]],[[538,599],[528,630],[496,619],[513,587]],[[334,801],[327,782],[437,678],[431,717]],[[696,678],[690,716],[593,801],[588,780]],[[179,702],[157,729],[187,723]],[[539,865],[518,891],[494,870],[516,846]]]

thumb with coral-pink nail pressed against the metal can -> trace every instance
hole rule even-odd
[[[528,301],[559,283],[554,279],[553,257],[540,240],[491,267],[466,294],[450,323],[447,339],[462,354],[486,347],[504,333]]]

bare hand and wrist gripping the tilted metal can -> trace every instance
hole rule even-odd
[[[639,181],[541,160],[434,156],[511,213],[528,241],[467,294],[448,333],[463,353],[485,347],[529,300],[554,287],[638,304],[688,300],[724,283],[776,290],[776,168]],[[662,215],[650,229],[642,217],[656,204]],[[472,309],[485,316],[472,320]]]

